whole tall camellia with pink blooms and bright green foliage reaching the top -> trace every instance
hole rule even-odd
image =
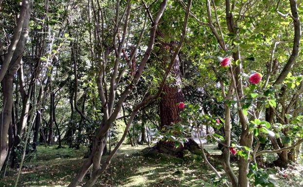
[[[255,20],[250,17],[253,15],[250,2],[206,0],[197,6],[206,10],[207,23],[203,22],[205,19],[196,16],[200,14],[198,11],[192,13],[192,17],[197,23],[208,24],[214,38],[209,42],[209,49],[216,49],[200,52],[202,57],[199,61],[205,63],[198,62],[198,69],[202,71],[200,74],[207,75],[203,77],[201,87],[216,91],[217,98],[224,102],[224,116],[204,114],[201,106],[196,106],[199,103],[190,101],[185,102],[182,116],[185,115],[189,126],[196,129],[205,125],[223,130],[221,135],[208,136],[223,146],[222,166],[229,181],[225,183],[226,186],[231,183],[233,187],[249,187],[250,180],[255,185],[274,186],[275,182],[269,174],[258,167],[257,157],[265,153],[277,153],[279,164],[287,165],[298,157],[295,150],[303,142],[300,131],[302,113],[297,110],[303,79],[302,72],[293,68],[297,58],[300,58],[300,10],[295,0],[289,0],[288,3],[279,1],[275,7],[265,5],[263,11],[255,15],[259,20]],[[282,10],[289,12],[283,14],[280,12]],[[270,12],[270,16],[263,14],[266,12]],[[292,34],[286,37],[280,24],[277,27],[267,25],[269,17],[273,22],[289,21],[289,26],[293,28]],[[254,31],[260,32],[260,40]],[[283,40],[281,35],[285,36]],[[287,46],[284,47],[288,48],[288,53],[280,51],[282,47],[279,46],[285,43],[286,38]],[[231,119],[231,111],[236,112],[235,119]],[[234,142],[231,136],[236,128],[232,127],[232,120],[241,129],[241,135]],[[265,143],[267,146],[260,146]],[[201,146],[203,148],[202,143]],[[231,154],[238,158],[237,172],[232,170]],[[217,177],[222,178],[205,155],[204,160]]]

